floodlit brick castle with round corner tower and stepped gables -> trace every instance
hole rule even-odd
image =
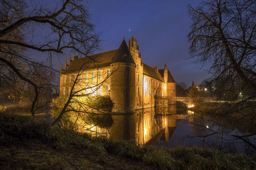
[[[109,95],[115,111],[133,111],[175,103],[176,83],[166,64],[150,67],[141,60],[136,38],[122,41],[116,50],[61,65],[60,95],[67,95],[79,74],[74,90],[78,94]]]

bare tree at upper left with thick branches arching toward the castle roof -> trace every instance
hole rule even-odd
[[[0,1],[0,78],[8,81],[3,75],[12,73],[33,87],[31,113],[34,115],[41,87],[24,71],[25,66],[36,63],[28,52],[47,53],[49,61],[56,53],[88,55],[97,49],[99,36],[89,22],[82,0],[57,1],[54,7],[30,3]],[[53,70],[51,65],[49,68]]]

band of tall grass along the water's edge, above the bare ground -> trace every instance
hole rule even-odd
[[[0,145],[36,139],[53,148],[78,149],[98,155],[108,154],[144,162],[154,169],[255,169],[256,158],[223,153],[196,146],[173,149],[138,146],[132,141],[90,138],[86,134],[52,128],[29,117],[0,114]]]

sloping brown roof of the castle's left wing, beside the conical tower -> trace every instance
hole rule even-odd
[[[113,57],[115,56],[116,50],[111,50],[108,52],[97,53],[95,55],[90,55],[88,57],[83,57],[80,59],[76,59],[71,62],[70,66],[67,66],[66,70],[63,70],[62,73],[75,73],[82,69],[94,69],[99,67],[107,67],[110,66]]]

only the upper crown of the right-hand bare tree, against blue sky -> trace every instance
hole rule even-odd
[[[211,0],[189,6],[193,20],[188,38],[198,62],[231,82],[239,79],[256,92],[256,1]],[[230,83],[230,82],[228,82]]]

